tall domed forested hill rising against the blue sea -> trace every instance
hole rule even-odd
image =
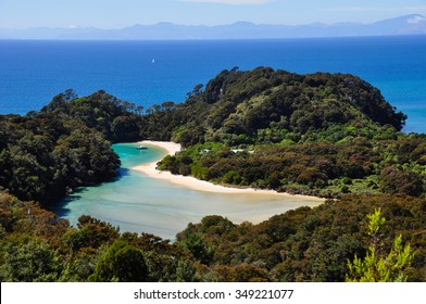
[[[297,75],[270,67],[223,71],[204,91],[199,85],[173,111],[154,106],[147,113],[146,137],[172,138],[184,145],[306,141],[317,136],[329,141],[356,136],[372,139],[376,130],[401,130],[406,118],[376,88],[355,76]]]

